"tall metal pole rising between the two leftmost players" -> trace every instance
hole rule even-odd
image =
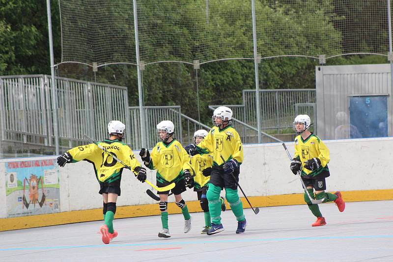
[[[140,75],[141,64],[139,54],[139,35],[138,35],[138,13],[137,13],[137,0],[133,0],[134,5],[134,30],[135,30],[135,50],[137,55],[137,74],[138,74],[138,94],[139,94],[139,111],[140,111],[140,136],[141,136],[141,147],[146,147],[146,122],[144,119],[143,109],[143,86],[142,78]]]

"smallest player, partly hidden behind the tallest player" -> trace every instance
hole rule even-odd
[[[194,133],[194,142],[195,144],[199,144],[203,138],[208,134],[206,130],[198,130]],[[185,148],[186,151],[188,147]],[[197,197],[200,203],[200,207],[203,210],[204,217],[205,217],[205,226],[200,234],[206,234],[212,227],[211,227],[211,216],[209,212],[209,204],[206,198],[206,192],[208,188],[208,184],[210,181],[210,173],[211,173],[211,166],[213,164],[212,156],[209,154],[203,155],[195,155],[191,157],[191,166],[195,170],[196,176],[194,178],[194,191],[197,192]],[[221,201],[221,210],[225,211],[225,201],[223,197],[220,197]]]

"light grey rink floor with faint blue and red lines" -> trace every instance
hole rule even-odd
[[[157,207],[158,208],[158,207]],[[393,261],[393,201],[321,204],[327,225],[311,227],[306,205],[246,209],[245,234],[235,234],[231,210],[224,232],[201,235],[203,213],[192,213],[184,234],[181,214],[169,215],[170,238],[157,236],[160,216],[115,219],[118,236],[101,241],[102,221],[0,232],[0,261],[360,262]]]

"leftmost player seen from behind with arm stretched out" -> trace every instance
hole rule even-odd
[[[109,139],[98,142],[126,165],[130,166],[140,182],[146,180],[146,169],[140,166],[131,148],[122,142],[126,126],[120,121],[111,121],[108,124]],[[95,144],[88,144],[72,148],[60,157],[57,164],[64,167],[66,163],[75,163],[86,160],[93,164],[97,180],[100,183],[100,193],[104,199],[103,215],[105,224],[100,227],[102,241],[109,244],[117,236],[113,229],[113,217],[116,213],[116,201],[120,196],[120,181],[124,166],[117,162],[108,153],[102,151]]]

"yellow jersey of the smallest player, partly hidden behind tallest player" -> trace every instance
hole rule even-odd
[[[207,167],[211,167],[213,165],[213,157],[204,154],[204,155],[195,155],[191,157],[191,167],[195,171],[195,178],[194,178],[194,188],[199,189],[202,188],[203,186],[207,185],[210,181],[210,176],[205,177],[203,176],[203,169]],[[193,171],[191,171],[191,174]]]

